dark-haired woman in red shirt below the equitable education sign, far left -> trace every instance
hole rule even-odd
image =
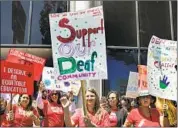
[[[18,104],[12,105],[12,110],[6,114],[6,120],[9,126],[12,127],[33,127],[33,124],[39,126],[39,115],[37,110],[32,107],[32,97],[21,94]]]

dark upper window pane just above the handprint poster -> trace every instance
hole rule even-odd
[[[168,1],[139,1],[138,9],[141,47],[148,47],[152,35],[171,39]]]

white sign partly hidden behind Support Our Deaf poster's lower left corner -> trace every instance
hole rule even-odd
[[[53,67],[44,67],[42,81],[47,90],[61,90],[63,92],[72,91],[75,96],[78,95],[81,87],[80,81],[58,81],[54,77]]]

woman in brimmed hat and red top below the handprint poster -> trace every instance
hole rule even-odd
[[[159,113],[156,108],[151,108],[152,96],[148,93],[137,97],[138,108],[131,110],[124,123],[124,127],[168,127],[167,114]],[[166,110],[167,108],[164,108]]]

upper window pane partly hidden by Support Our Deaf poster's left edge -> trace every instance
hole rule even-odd
[[[51,44],[49,13],[67,11],[67,1],[33,1],[31,44]]]

